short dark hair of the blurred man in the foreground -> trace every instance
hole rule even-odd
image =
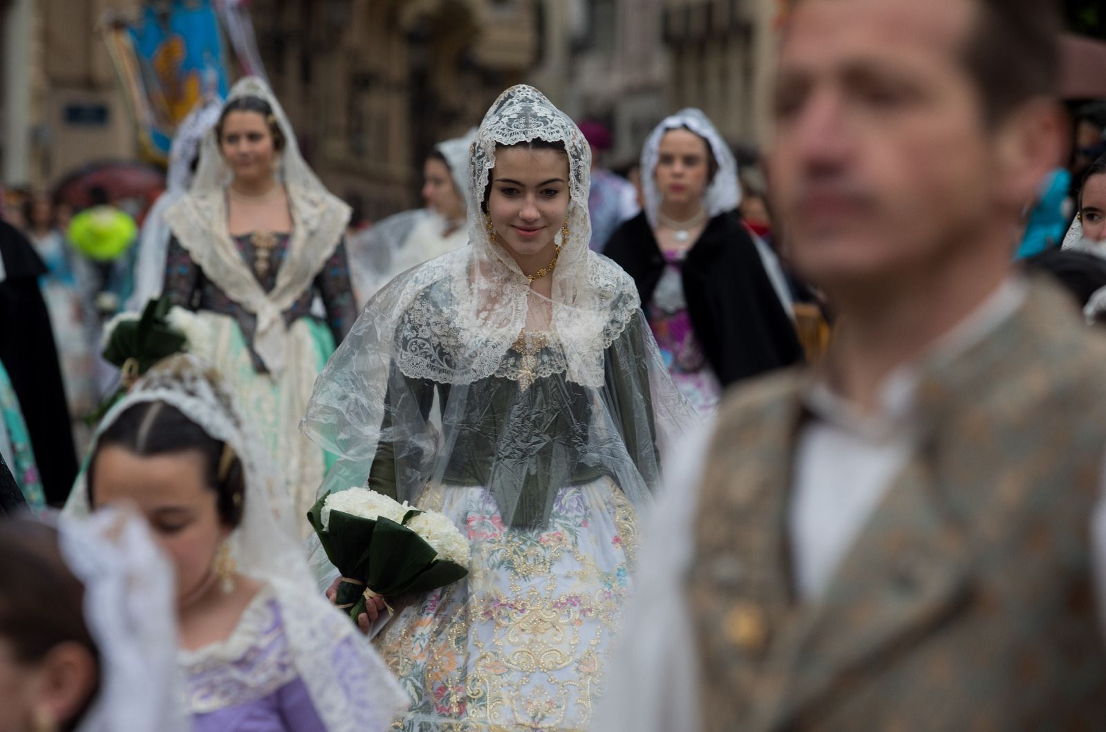
[[[1055,94],[1063,21],[1056,0],[970,1],[975,12],[962,60],[993,126],[1030,100]]]

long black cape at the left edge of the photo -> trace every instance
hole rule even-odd
[[[6,221],[0,221],[0,257],[7,271],[0,282],[0,363],[23,411],[46,502],[60,505],[76,478],[76,451],[50,313],[39,290],[46,266]]]

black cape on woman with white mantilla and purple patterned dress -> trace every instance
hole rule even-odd
[[[645,213],[623,223],[603,253],[637,283],[641,305],[665,271]],[[737,212],[712,218],[681,268],[688,315],[722,386],[797,363],[803,349]]]

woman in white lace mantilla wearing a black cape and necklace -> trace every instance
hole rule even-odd
[[[699,109],[653,130],[641,187],[645,210],[603,251],[634,278],[672,378],[707,416],[734,381],[802,357],[786,279],[734,210],[737,161]]]

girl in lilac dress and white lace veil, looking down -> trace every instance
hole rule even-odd
[[[403,693],[315,588],[278,474],[219,374],[180,355],[104,418],[71,509],[134,503],[171,557],[197,732],[386,729]]]

